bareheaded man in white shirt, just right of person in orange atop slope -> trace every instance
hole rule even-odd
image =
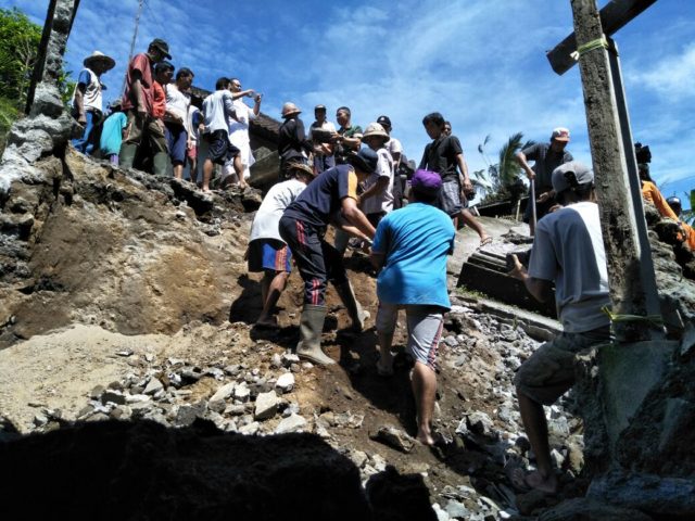
[[[181,67],[176,72],[176,82],[165,86],[166,114],[164,134],[176,179],[184,178],[184,164],[188,150],[188,111],[191,105],[190,89],[193,85],[193,72]]]

